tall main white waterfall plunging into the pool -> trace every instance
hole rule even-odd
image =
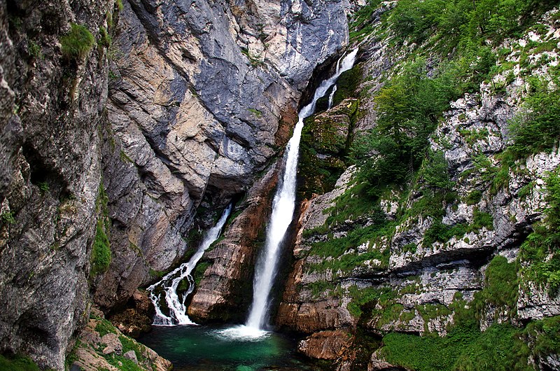
[[[272,216],[270,216],[267,229],[265,251],[260,256],[255,269],[253,303],[246,321],[248,328],[262,329],[267,324],[267,311],[270,304],[269,296],[274,276],[276,275],[276,263],[280,255],[279,247],[284,235],[286,235],[288,226],[292,222],[295,209],[297,155],[300,152],[303,120],[314,113],[317,99],[325,95],[329,88],[334,85],[340,74],[352,68],[357,53],[358,49],[356,48],[342,59],[342,63],[340,59],[338,60],[334,76],[321,82],[321,85],[315,90],[311,103],[304,106],[298,114],[299,120],[293,130],[293,136],[288,141],[288,146],[286,147],[286,170],[272,202]]]

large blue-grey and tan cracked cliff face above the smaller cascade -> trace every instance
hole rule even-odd
[[[177,262],[203,200],[225,206],[289,138],[314,67],[347,43],[338,1],[123,1],[111,49],[104,309]]]

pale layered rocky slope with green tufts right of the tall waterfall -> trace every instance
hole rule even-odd
[[[379,27],[379,14],[393,6],[384,3],[371,11],[368,22]],[[445,358],[447,350],[441,345],[436,356],[422,344],[430,344],[434,334],[442,339],[447,334],[456,336],[467,328],[465,318],[476,321],[481,337],[491,336],[488,334],[500,325],[505,326],[505,333],[510,331],[507,325],[512,325],[524,334],[515,335],[524,342],[548,341],[544,332],[534,328],[542,323],[554,326],[560,298],[554,283],[546,278],[543,283],[538,278],[540,271],[535,273],[542,265],[529,257],[531,242],[527,241],[536,236],[527,236],[542,223],[550,223],[549,215],[555,212],[549,209],[554,204],[549,195],[553,192],[550,179],[560,165],[558,137],[550,150],[513,160],[507,156],[513,151],[510,125],[527,115],[526,101],[536,91],[531,84],[544,80],[552,89],[546,94],[558,97],[554,85],[558,83],[559,52],[556,13],[547,13],[524,38],[507,39],[495,46],[503,50],[498,71],[473,94],[451,102],[430,135],[419,175],[409,185],[397,184],[372,197],[365,192],[367,183],[361,183],[363,169],[349,167],[330,192],[312,194],[328,189],[323,174],[340,172],[322,162],[332,153],[325,146],[347,143],[349,137],[356,139],[378,125],[377,94],[387,91],[383,85],[390,84],[395,71],[402,71],[407,52],[417,48],[406,43],[395,47],[376,31],[361,41],[363,62],[353,71],[360,83],[353,93],[349,84],[346,94],[359,99],[359,113],[346,113],[341,120],[340,110],[351,105],[349,99],[340,97],[338,106],[312,119],[319,123],[313,127],[323,129],[314,132],[311,128],[307,144],[302,144],[303,151],[306,145],[314,148],[300,164],[300,169],[308,169],[301,190],[311,200],[302,203],[293,249],[295,263],[276,318],[280,328],[308,335],[300,343],[302,353],[332,360],[337,370],[430,369],[435,363],[428,360],[426,366],[422,359]],[[416,52],[421,54],[421,48]],[[435,75],[435,69],[430,72],[428,62],[428,76],[430,73]],[[351,134],[333,130],[332,122]],[[552,125],[558,125],[557,121]],[[449,182],[444,191],[430,186],[426,175],[435,166],[437,154],[443,164],[437,172],[447,173]],[[317,164],[323,170],[310,172]],[[316,174],[311,179],[319,187],[309,189],[309,174]],[[556,267],[554,251],[551,247],[541,255],[546,267]],[[545,274],[553,275],[554,269]],[[544,322],[538,322],[542,318]],[[421,343],[418,335],[426,335],[428,340]],[[465,337],[465,344],[470,344],[468,339]],[[553,335],[545,349],[529,345],[531,351],[519,359],[530,369],[558,367],[554,339]],[[498,340],[495,342],[501,349]],[[423,350],[414,353],[412,349]],[[451,358],[455,360],[461,349],[454,345]],[[416,359],[409,360],[409,352]],[[437,367],[450,367],[443,362]],[[498,362],[502,361],[496,360],[494,367],[501,364]],[[479,367],[489,365],[480,363]]]

